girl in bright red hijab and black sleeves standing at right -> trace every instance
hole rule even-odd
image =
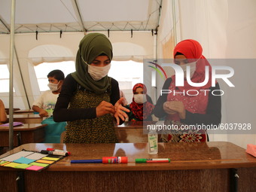
[[[197,130],[197,125],[221,123],[221,94],[218,91],[220,87],[218,83],[212,87],[212,68],[202,53],[203,48],[200,43],[192,39],[181,41],[175,46],[173,51],[175,64],[181,66],[183,70],[186,66],[190,66],[190,80],[194,83],[202,83],[206,76],[205,67],[209,66],[209,81],[203,87],[192,87],[184,78],[184,86],[176,87],[175,75],[166,79],[163,90],[171,90],[169,91],[171,93],[159,97],[154,108],[155,116],[166,117],[166,123],[174,124],[179,128],[182,125],[183,127],[194,125],[196,129],[172,130],[171,133],[162,135],[163,142],[206,142],[208,140],[206,131]]]

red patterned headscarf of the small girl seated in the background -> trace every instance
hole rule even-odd
[[[136,84],[133,87],[133,94],[136,93],[136,89],[138,87],[141,87],[143,89],[143,94],[147,93],[147,87],[145,84]],[[144,108],[143,108],[144,107]],[[130,104],[130,110],[133,112],[134,116],[139,120],[145,120],[148,118],[148,115],[151,114],[151,112],[154,109],[154,105],[150,102],[145,102],[143,104],[136,103],[133,98],[133,102]]]

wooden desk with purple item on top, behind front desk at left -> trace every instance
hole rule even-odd
[[[44,142],[44,126],[47,124],[31,123],[14,126],[14,146],[18,146],[17,134],[20,134],[21,143]],[[0,126],[0,146],[9,146],[9,127]]]

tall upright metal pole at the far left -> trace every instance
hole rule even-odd
[[[9,89],[9,149],[14,148],[14,31],[15,0],[11,1],[11,34],[10,34],[10,89]]]

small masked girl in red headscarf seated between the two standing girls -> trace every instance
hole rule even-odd
[[[147,88],[145,84],[136,84],[133,87],[133,102],[127,105],[126,108],[130,109],[127,113],[130,121],[145,120],[151,121],[151,112],[154,105],[148,102]]]

